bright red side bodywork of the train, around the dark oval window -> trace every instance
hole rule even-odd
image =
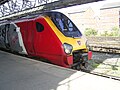
[[[37,31],[36,22],[44,26],[42,32]],[[73,57],[68,56],[66,58],[61,41],[43,17],[18,22],[17,25],[20,27],[28,55],[46,58],[52,63],[64,67],[72,64]]]

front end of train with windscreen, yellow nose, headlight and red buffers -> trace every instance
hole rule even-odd
[[[47,12],[46,21],[57,35],[64,50],[62,66],[75,69],[86,68],[92,52],[87,48],[87,40],[75,24],[60,12]]]

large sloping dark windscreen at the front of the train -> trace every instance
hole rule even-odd
[[[59,12],[48,12],[56,27],[67,37],[81,37],[82,34],[75,24],[64,14]]]

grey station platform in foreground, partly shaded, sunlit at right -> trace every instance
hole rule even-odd
[[[0,90],[120,90],[120,81],[0,51]]]

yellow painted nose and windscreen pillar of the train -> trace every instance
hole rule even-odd
[[[45,19],[48,22],[48,24],[51,26],[52,30],[55,32],[57,37],[60,39],[62,44],[67,43],[67,44],[72,45],[73,47],[72,52],[76,50],[84,50],[85,52],[88,52],[88,49],[86,47],[86,38],[84,36],[77,37],[77,38],[66,37],[60,32],[60,30],[58,30],[58,28],[55,26],[55,24],[51,21],[49,17],[45,17]]]

